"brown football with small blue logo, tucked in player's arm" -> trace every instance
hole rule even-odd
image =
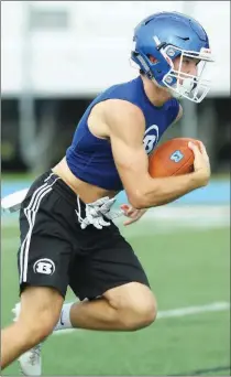
[[[148,157],[148,172],[152,177],[187,174],[194,171],[194,152],[188,147],[193,141],[199,147],[199,142],[191,138],[170,139]]]

